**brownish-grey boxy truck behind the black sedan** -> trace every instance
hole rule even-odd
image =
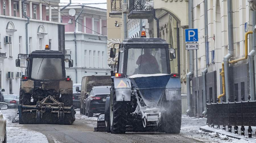
[[[96,86],[111,86],[111,76],[84,76],[82,78],[81,89],[76,89],[77,92],[81,93],[80,98],[80,114],[85,115],[84,101],[88,97],[90,90]]]

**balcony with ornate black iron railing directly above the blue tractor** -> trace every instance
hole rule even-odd
[[[148,3],[153,0],[129,0],[129,19],[148,19],[153,16]]]

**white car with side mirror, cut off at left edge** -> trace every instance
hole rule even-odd
[[[0,109],[5,110],[8,109],[8,105],[6,103],[0,102]],[[0,112],[0,143],[7,143],[6,140],[6,118],[3,117],[3,114]],[[4,131],[4,132],[3,132]]]

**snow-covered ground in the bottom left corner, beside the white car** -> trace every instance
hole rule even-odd
[[[6,118],[7,143],[48,143],[47,137],[40,132],[26,129],[19,123],[12,123],[17,109],[1,110],[1,112]]]

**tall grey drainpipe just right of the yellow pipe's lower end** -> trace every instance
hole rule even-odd
[[[226,101],[228,100],[230,93],[229,93],[229,59],[233,56],[234,48],[233,48],[233,11],[232,11],[232,0],[227,0],[227,18],[228,18],[228,54],[224,56],[224,77],[225,77],[225,90],[226,90]]]

